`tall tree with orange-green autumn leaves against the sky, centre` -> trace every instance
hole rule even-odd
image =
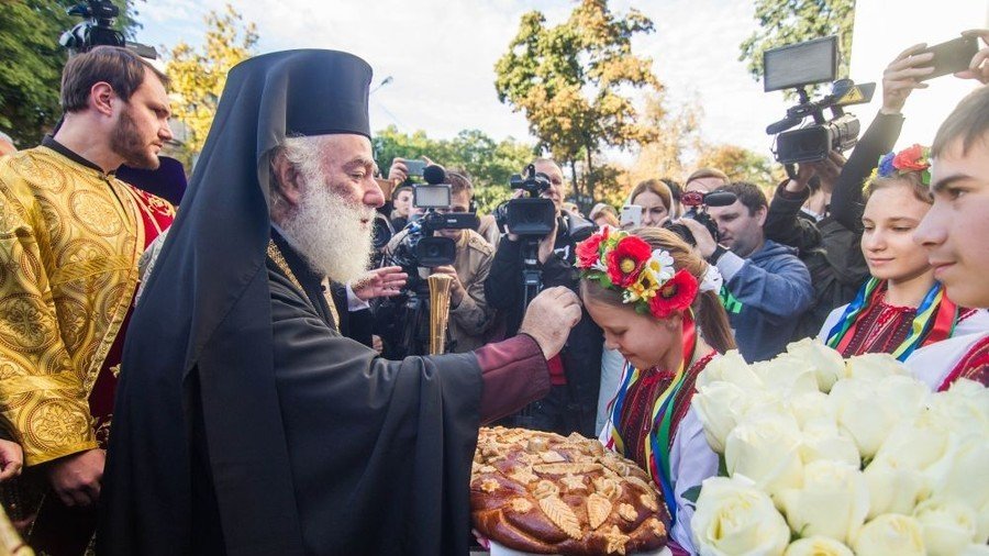
[[[596,168],[598,154],[655,136],[629,96],[660,88],[652,59],[632,53],[632,37],[652,31],[648,18],[616,16],[607,0],[581,0],[556,26],[532,11],[494,67],[498,99],[525,114],[541,152],[570,168],[578,198],[597,198],[599,180],[613,174]]]

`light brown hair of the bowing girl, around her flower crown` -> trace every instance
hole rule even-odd
[[[662,227],[636,227],[631,233],[645,240],[654,249],[667,251],[674,258],[675,268],[686,269],[697,278],[698,282],[703,281],[704,274],[708,271],[708,263],[697,255],[693,247],[687,245],[679,235]],[[589,297],[612,307],[633,310],[631,305],[622,301],[622,292],[604,289],[593,280],[580,280],[580,294],[585,299]],[[697,324],[700,326],[701,334],[711,347],[718,349],[718,353],[735,348],[732,326],[729,324],[727,313],[724,312],[716,291],[698,292],[697,299],[693,300],[693,310],[697,313]]]

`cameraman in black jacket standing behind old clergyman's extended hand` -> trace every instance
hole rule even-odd
[[[535,173],[548,178],[548,187],[541,197],[555,205],[555,230],[538,242],[535,268],[542,274],[542,287],[565,286],[577,290],[578,275],[574,267],[575,245],[581,240],[580,230],[590,232],[592,224],[574,214],[563,214],[563,170],[551,159],[533,162]],[[522,194],[522,190],[515,197]],[[524,312],[525,288],[523,276],[524,240],[507,230],[494,253],[491,274],[485,282],[488,303],[501,312],[505,320],[507,337],[514,336]],[[601,375],[601,348],[603,335],[585,311],[580,322],[570,332],[566,347],[549,362],[553,387],[549,394],[533,403],[525,413],[514,415],[512,424],[567,435],[579,432],[585,436],[597,435],[594,415]]]

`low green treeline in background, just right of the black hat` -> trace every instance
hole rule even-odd
[[[496,142],[479,130],[464,130],[452,140],[432,140],[422,131],[401,133],[393,125],[375,133],[375,162],[382,175],[395,158],[429,157],[470,175],[474,200],[482,213],[511,197],[509,178],[532,160],[533,149],[512,138]]]

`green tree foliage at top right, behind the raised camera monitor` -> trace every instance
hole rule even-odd
[[[765,51],[827,35],[838,36],[838,78],[848,77],[855,0],[757,0],[755,19],[759,29],[740,45],[738,60],[756,80]]]

